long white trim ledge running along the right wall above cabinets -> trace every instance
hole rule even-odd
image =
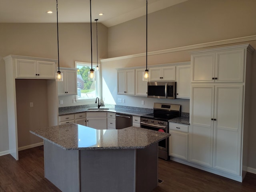
[[[210,46],[226,45],[226,44],[254,41],[254,40],[256,40],[256,35],[227,39],[227,40],[220,40],[220,41],[214,41],[214,42],[208,42],[208,43],[201,43],[201,44],[195,44],[195,45],[189,45],[189,46],[183,46],[183,47],[177,47],[177,48],[171,48],[171,49],[165,49],[165,50],[159,50],[159,51],[152,51],[152,52],[148,52],[148,55],[158,55],[158,54],[165,54],[165,53],[171,53],[171,52],[192,50],[197,48],[205,48]],[[133,54],[133,55],[101,59],[100,62],[108,62],[108,61],[144,57],[144,56],[146,56],[146,53],[139,53],[139,54]]]

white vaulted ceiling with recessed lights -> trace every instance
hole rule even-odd
[[[148,0],[148,14],[187,0]],[[46,11],[52,10],[53,14]],[[99,13],[104,13],[99,16]],[[107,27],[146,14],[146,0],[92,0],[92,22]],[[0,23],[56,22],[56,0],[0,0]],[[58,0],[58,22],[90,22],[90,0]]]

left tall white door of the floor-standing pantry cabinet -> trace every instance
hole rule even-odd
[[[214,86],[192,86],[190,161],[212,167]]]

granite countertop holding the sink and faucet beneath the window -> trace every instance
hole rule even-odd
[[[147,111],[138,111],[138,110],[130,110],[130,109],[122,109],[122,108],[108,108],[108,110],[102,110],[104,108],[108,107],[101,107],[100,110],[89,110],[89,108],[78,108],[78,109],[70,109],[70,110],[62,110],[59,111],[59,115],[68,115],[72,113],[79,113],[79,112],[115,112],[115,113],[121,113],[121,114],[128,114],[128,115],[134,115],[134,116],[142,116],[147,115],[150,112]]]

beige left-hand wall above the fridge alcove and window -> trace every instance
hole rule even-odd
[[[96,24],[92,29],[93,61],[96,61]],[[100,58],[107,57],[107,34],[106,26],[98,23]],[[91,62],[90,23],[60,23],[59,46],[60,67],[74,68],[75,61]],[[2,58],[10,54],[57,59],[56,24],[0,23],[0,155],[9,150],[5,64]]]

